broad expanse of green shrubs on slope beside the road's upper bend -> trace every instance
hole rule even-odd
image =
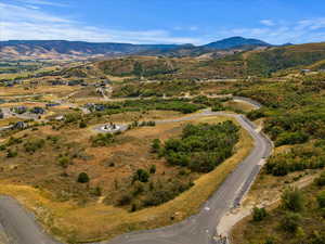
[[[264,105],[249,113],[248,117],[266,117],[264,131],[276,145],[325,138],[325,101],[320,82],[303,79],[271,84],[258,81],[242,84],[237,89],[237,94]]]

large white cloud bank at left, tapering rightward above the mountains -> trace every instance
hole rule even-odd
[[[27,1],[27,0],[24,0]],[[30,0],[28,0],[30,1]],[[32,0],[34,1],[34,0]],[[0,3],[0,39],[64,39],[95,42],[200,43],[198,38],[174,37],[167,30],[118,30],[87,26],[39,9]]]

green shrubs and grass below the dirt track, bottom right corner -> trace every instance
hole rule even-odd
[[[324,178],[323,172],[303,190],[286,189],[275,209],[255,209],[252,219],[248,217],[235,229],[234,243],[325,243]]]

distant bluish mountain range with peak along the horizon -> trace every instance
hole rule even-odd
[[[212,51],[232,49],[248,50],[272,47],[258,39],[232,37],[204,46],[194,44],[131,44],[114,42],[86,42],[67,40],[9,40],[0,41],[0,54],[3,59],[36,57],[55,59],[93,55],[129,55],[129,54],[202,54]]]

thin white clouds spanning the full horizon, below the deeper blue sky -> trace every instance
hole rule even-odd
[[[171,30],[173,34],[164,29],[100,28],[77,22],[68,16],[56,16],[41,10],[41,4],[53,3],[50,0],[18,1],[24,2],[25,5],[0,3],[0,40],[65,39],[94,42],[203,44],[221,38],[243,36],[262,39],[273,44],[325,41],[325,17],[300,20],[295,23],[283,20],[276,20],[276,22],[262,20],[260,23],[263,26],[260,27],[224,28],[213,36],[202,34],[199,37],[194,37],[194,33],[198,30],[198,27],[194,25],[177,26],[172,29],[174,31]],[[179,36],[181,31],[192,31],[192,34],[188,33],[190,37]]]

